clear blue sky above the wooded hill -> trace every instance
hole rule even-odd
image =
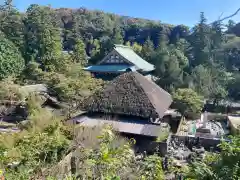
[[[0,2],[3,0],[0,0]],[[164,23],[193,26],[199,13],[205,13],[209,22],[234,13],[240,0],[14,0],[15,6],[25,11],[30,4],[98,9],[119,15],[160,20]],[[233,20],[240,22],[240,13]]]

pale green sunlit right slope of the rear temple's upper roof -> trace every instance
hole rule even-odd
[[[144,59],[142,59],[139,55],[137,55],[131,47],[124,45],[115,45],[114,48],[122,57],[127,59],[129,62],[136,66],[136,69],[142,69],[143,71],[152,71],[154,70],[154,66]]]

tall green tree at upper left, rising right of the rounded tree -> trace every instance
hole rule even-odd
[[[28,61],[41,63],[44,70],[55,70],[62,53],[60,28],[49,7],[31,5],[25,19]]]

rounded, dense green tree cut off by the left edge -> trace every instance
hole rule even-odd
[[[24,59],[18,48],[0,32],[0,79],[17,76],[24,68]]]

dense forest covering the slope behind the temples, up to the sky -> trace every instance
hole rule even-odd
[[[127,44],[156,66],[157,83],[170,92],[190,87],[207,99],[240,99],[240,30],[231,20],[208,24],[201,13],[189,29],[84,8],[31,5],[20,13],[5,5],[1,12],[1,78],[21,74],[29,62],[43,71],[61,71],[70,59],[94,64],[113,44]]]

